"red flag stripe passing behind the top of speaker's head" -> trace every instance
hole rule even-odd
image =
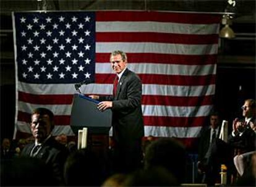
[[[129,63],[156,63],[181,65],[215,64],[216,54],[186,55],[186,54],[157,54],[157,53],[127,53]],[[96,62],[109,62],[109,53],[96,53]]]

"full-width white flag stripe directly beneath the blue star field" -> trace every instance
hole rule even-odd
[[[44,89],[42,89],[44,88]],[[90,84],[81,86],[83,94],[112,94],[112,84]],[[19,91],[31,94],[75,94],[74,84],[29,84],[19,82]],[[56,93],[58,91],[58,93]],[[206,86],[174,86],[174,85],[142,85],[143,95],[159,95],[159,96],[208,96],[215,94],[215,85]]]

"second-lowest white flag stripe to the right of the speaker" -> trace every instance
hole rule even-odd
[[[202,117],[209,115],[212,107],[211,105],[196,107],[142,105],[142,113],[146,116]]]

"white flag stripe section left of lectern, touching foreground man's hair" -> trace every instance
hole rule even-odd
[[[46,108],[53,112],[54,115],[70,115],[71,105],[70,104],[30,104],[27,102],[19,101],[19,110],[21,112],[32,113],[36,108]]]

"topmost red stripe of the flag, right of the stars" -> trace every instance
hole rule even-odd
[[[96,22],[174,22],[190,24],[220,23],[221,15],[174,12],[99,11]]]

